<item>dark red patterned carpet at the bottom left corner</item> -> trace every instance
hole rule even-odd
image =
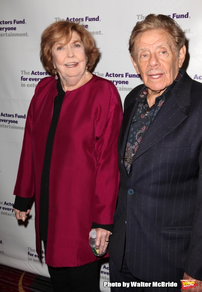
[[[51,280],[0,265],[0,292],[53,292]]]

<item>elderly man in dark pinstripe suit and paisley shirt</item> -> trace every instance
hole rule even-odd
[[[181,69],[184,32],[172,18],[137,23],[129,52],[144,84],[124,103],[112,291],[178,292],[184,277],[198,283],[186,292],[202,292],[202,84]]]

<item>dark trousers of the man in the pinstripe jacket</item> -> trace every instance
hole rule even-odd
[[[126,258],[124,257],[122,271],[119,272],[110,259],[110,283],[121,283],[121,287],[111,287],[111,292],[181,292],[180,288],[175,287],[131,287],[130,282],[148,283],[147,281],[134,277],[128,268]],[[123,287],[123,282],[128,283]],[[125,285],[125,284],[124,284]],[[150,285],[152,286],[152,285]]]

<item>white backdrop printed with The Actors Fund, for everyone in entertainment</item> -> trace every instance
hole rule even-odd
[[[34,203],[26,223],[16,220],[13,189],[25,120],[41,78],[47,76],[39,60],[40,35],[58,20],[80,21],[96,40],[101,58],[94,74],[115,84],[122,102],[142,83],[130,61],[128,41],[137,21],[149,13],[175,19],[186,35],[184,68],[202,82],[201,0],[0,0],[0,263],[48,275],[35,248]],[[100,272],[101,291],[109,281],[109,264]]]

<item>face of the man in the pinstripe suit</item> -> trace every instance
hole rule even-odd
[[[185,46],[176,56],[173,43],[171,35],[163,29],[146,31],[135,40],[135,60],[131,60],[149,94],[162,94],[173,83],[183,65]]]

